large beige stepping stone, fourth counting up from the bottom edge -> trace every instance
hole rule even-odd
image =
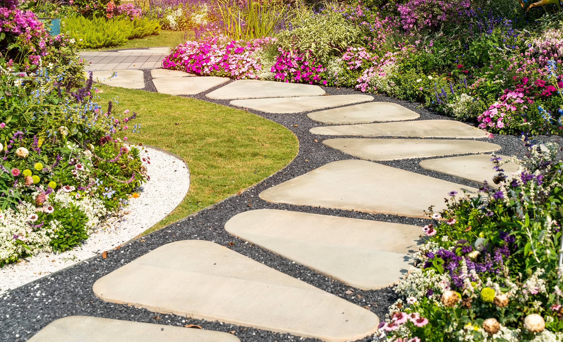
[[[375,214],[425,217],[446,209],[450,191],[476,196],[476,188],[366,160],[339,160],[271,187],[260,198],[272,203],[321,206]]]

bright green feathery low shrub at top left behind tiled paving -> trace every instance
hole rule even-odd
[[[129,39],[158,34],[160,24],[149,19],[129,20],[125,16],[105,19],[104,17],[83,16],[62,20],[62,30],[73,37],[79,47],[100,48],[120,46]]]

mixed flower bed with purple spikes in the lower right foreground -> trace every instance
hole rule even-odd
[[[379,329],[392,341],[555,341],[563,338],[557,273],[561,169],[556,145],[535,145],[498,185],[429,215],[418,266]]]

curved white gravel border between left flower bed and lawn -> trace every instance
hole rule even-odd
[[[129,199],[122,212],[125,215],[100,223],[82,246],[61,254],[39,253],[0,268],[0,294],[115,248],[154,226],[180,204],[190,188],[190,173],[184,161],[143,147],[141,157],[150,157],[150,164],[146,164],[150,181],[141,187],[138,198]]]

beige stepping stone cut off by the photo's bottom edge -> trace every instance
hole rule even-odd
[[[28,342],[240,342],[227,332],[118,319],[70,316],[44,327]]]

